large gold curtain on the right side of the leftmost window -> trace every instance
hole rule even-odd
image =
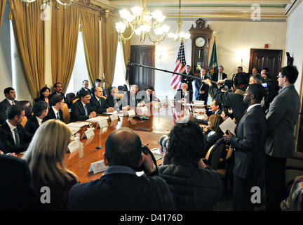
[[[36,98],[45,84],[45,37],[44,22],[41,20],[41,0],[31,4],[12,1],[13,31],[22,70],[29,92]]]

